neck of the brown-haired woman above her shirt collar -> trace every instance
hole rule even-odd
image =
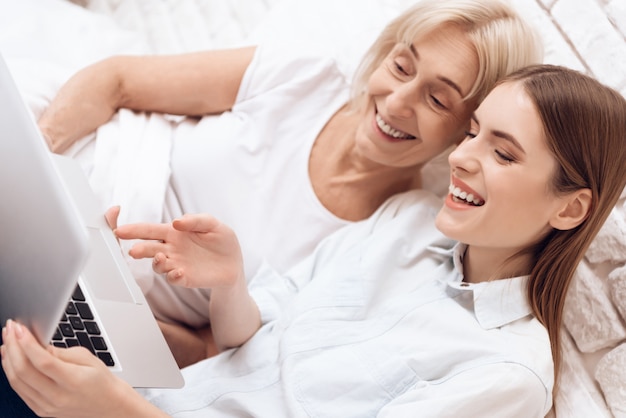
[[[510,248],[468,246],[463,256],[463,281],[480,283],[530,273],[531,256]]]

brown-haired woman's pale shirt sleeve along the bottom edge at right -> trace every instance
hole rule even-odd
[[[387,404],[379,418],[499,417],[543,418],[551,390],[518,363],[473,367],[438,382],[420,382]]]

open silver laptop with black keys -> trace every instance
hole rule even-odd
[[[0,321],[87,347],[134,387],[182,375],[79,164],[54,155],[0,56]]]

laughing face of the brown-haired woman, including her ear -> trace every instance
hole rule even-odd
[[[496,87],[450,154],[451,193],[436,225],[494,265],[537,243],[554,226],[566,196],[551,181],[557,163],[541,120],[519,84]],[[471,200],[471,202],[468,202]]]

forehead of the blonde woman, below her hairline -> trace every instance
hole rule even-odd
[[[473,87],[478,77],[478,54],[468,36],[459,28],[448,26],[413,41],[411,48],[421,70],[427,70],[442,80],[456,85],[462,97]]]

